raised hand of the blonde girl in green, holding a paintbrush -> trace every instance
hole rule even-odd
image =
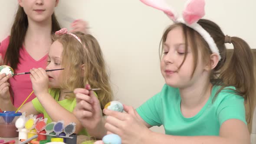
[[[30,69],[30,79],[36,96],[48,93],[48,75],[42,68]]]

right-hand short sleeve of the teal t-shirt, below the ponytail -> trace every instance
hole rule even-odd
[[[219,118],[219,124],[223,124],[224,121],[229,119],[238,119],[246,123],[244,98],[240,95],[235,95],[229,92],[223,93],[222,101],[217,108],[217,115]],[[219,95],[220,96],[220,95]]]

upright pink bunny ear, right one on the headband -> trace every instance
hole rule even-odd
[[[204,0],[189,0],[183,11],[183,18],[188,24],[197,23],[204,16]]]

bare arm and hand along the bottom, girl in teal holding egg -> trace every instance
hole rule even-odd
[[[104,110],[108,115],[105,128],[118,134],[124,144],[249,144],[246,124],[229,119],[220,127],[220,136],[173,136],[159,134],[148,129],[148,125],[132,107],[124,105],[127,113]],[[138,133],[139,131],[139,133]],[[132,138],[131,138],[132,137]]]

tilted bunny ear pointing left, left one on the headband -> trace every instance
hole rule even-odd
[[[141,0],[141,2],[155,9],[162,10],[171,20],[175,21],[173,10],[167,6],[164,0]]]

